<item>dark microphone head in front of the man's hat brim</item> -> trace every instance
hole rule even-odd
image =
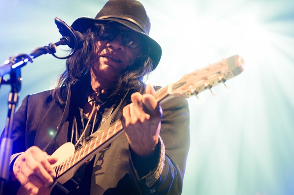
[[[59,32],[62,36],[66,38],[66,43],[70,48],[74,49],[77,44],[76,49],[80,49],[84,44],[84,36],[79,31],[75,31],[71,26],[68,26],[60,18],[55,18],[55,24],[59,29]],[[75,41],[76,40],[76,41]]]

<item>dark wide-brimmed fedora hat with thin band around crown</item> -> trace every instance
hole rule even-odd
[[[95,18],[81,17],[71,25],[74,30],[84,32],[94,23],[118,22],[137,32],[147,44],[149,56],[154,61],[155,69],[161,58],[160,45],[149,36],[151,23],[144,6],[135,0],[109,0]]]

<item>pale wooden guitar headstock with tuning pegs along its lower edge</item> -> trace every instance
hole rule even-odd
[[[167,93],[180,94],[186,98],[197,95],[239,75],[243,71],[243,63],[242,57],[238,55],[222,59],[208,67],[184,75],[179,81],[168,86]]]

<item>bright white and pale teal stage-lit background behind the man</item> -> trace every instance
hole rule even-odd
[[[95,17],[107,1],[0,1],[0,63],[57,42],[54,23]],[[182,194],[294,194],[294,1],[142,0],[163,49],[148,83],[168,85],[234,54],[244,72],[188,99],[191,144]],[[20,101],[54,87],[64,60],[22,68]],[[9,86],[0,89],[0,132]],[[19,102],[20,105],[21,102]]]

